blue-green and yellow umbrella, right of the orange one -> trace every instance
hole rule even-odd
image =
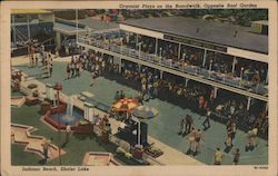
[[[132,115],[139,118],[151,118],[158,115],[158,110],[153,107],[138,106],[133,109]]]

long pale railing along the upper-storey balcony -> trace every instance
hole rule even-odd
[[[108,51],[117,52],[127,57],[145,60],[145,61],[156,63],[166,68],[170,68],[170,69],[186,72],[189,75],[195,75],[195,76],[202,77],[209,80],[221,82],[221,84],[232,86],[239,89],[244,89],[247,91],[256,92],[259,95],[266,95],[266,96],[268,94],[268,87],[267,85],[264,85],[264,84],[254,85],[252,81],[244,80],[239,77],[234,77],[227,74],[210,71],[208,69],[203,69],[197,66],[182,66],[181,62],[172,62],[171,59],[168,59],[168,60],[161,59],[161,57],[158,57],[153,53],[146,53],[142,51],[139,52],[138,50],[130,49],[126,46],[118,46],[116,43],[106,43],[102,40],[93,40],[85,36],[79,36],[78,41],[89,45],[89,46],[101,48]]]

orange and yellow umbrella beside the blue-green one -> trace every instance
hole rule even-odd
[[[113,104],[115,111],[131,111],[135,107],[139,106],[137,99],[123,98]]]

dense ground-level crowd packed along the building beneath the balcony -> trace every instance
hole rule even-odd
[[[262,111],[261,114],[264,115],[261,116],[260,114],[248,111],[244,99],[225,100],[221,97],[215,97],[215,89],[209,86],[197,82],[186,85],[186,80],[175,79],[171,75],[161,79],[158,71],[142,66],[139,68],[138,65],[130,62],[122,62],[121,68],[119,68],[119,63],[113,62],[112,58],[102,56],[99,52],[82,52],[80,58],[81,67],[92,72],[92,79],[100,75],[107,77],[121,76],[120,78],[125,84],[141,92],[139,98],[142,101],[150,98],[159,98],[178,104],[183,108],[190,108],[202,115],[206,115],[209,108],[211,111],[210,118],[212,116],[217,118],[230,115],[238,127],[242,129],[249,130],[257,123],[261,133],[267,131],[268,120],[266,120],[266,113]],[[121,71],[119,72],[119,70]]]

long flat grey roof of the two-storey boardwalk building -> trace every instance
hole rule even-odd
[[[126,20],[122,25],[175,35],[221,46],[268,53],[268,36],[251,33],[250,28],[185,17]],[[199,31],[197,32],[197,28]],[[237,31],[237,36],[234,37]],[[133,31],[136,32],[136,31]]]

